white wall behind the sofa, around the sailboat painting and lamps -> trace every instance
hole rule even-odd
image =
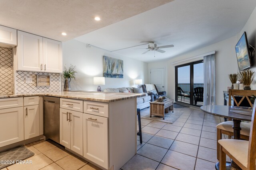
[[[96,47],[86,47],[80,41],[70,40],[63,43],[63,66],[70,64],[76,66],[76,80],[71,80],[71,90],[96,91],[93,85],[93,77],[103,76],[103,56],[108,56],[124,61],[124,78],[105,78],[105,88],[130,87],[134,85],[135,79],[142,79],[143,83],[148,82],[148,64],[142,61],[116,55],[109,51]],[[62,81],[62,89],[64,83]]]

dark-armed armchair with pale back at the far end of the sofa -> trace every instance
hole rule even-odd
[[[148,93],[148,96],[151,97],[151,102],[155,101],[160,96],[166,96],[166,91],[159,92],[155,84],[142,84],[142,90],[144,93]],[[156,93],[149,92],[151,90],[155,90]]]

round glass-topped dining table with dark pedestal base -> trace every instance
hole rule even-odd
[[[232,127],[234,129],[234,139],[240,139],[241,121],[252,121],[252,111],[250,107],[207,105],[201,106],[200,109],[212,115],[217,115],[224,118],[231,118],[234,123]],[[230,110],[236,111],[237,113]],[[218,166],[219,162],[216,164],[215,168],[218,169]],[[240,167],[236,165],[236,163],[234,163],[233,161],[231,162],[231,164],[227,162],[227,167],[230,167],[232,169],[240,169]]]

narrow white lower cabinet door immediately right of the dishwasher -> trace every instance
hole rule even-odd
[[[60,108],[60,145],[70,149],[70,110]]]

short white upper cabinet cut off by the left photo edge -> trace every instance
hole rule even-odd
[[[12,48],[17,45],[17,30],[0,25],[1,47]]]

